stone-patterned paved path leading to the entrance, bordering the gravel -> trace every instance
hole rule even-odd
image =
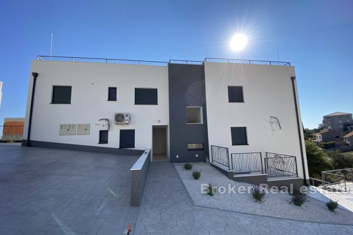
[[[347,218],[352,219],[352,218]],[[173,164],[151,163],[135,235],[352,235],[353,226],[196,207]]]

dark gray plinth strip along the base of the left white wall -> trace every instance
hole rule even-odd
[[[109,148],[109,147],[98,147],[98,146],[88,146],[88,145],[78,145],[69,143],[55,143],[55,142],[45,142],[45,141],[30,141],[32,147],[41,148],[58,148],[58,149],[68,149],[76,151],[94,152],[94,153],[108,153],[116,155],[141,155],[144,150],[138,149],[120,149],[120,148]],[[22,146],[27,145],[27,140],[22,141]]]

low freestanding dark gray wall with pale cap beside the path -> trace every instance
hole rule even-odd
[[[146,179],[151,163],[151,149],[141,155],[137,162],[131,167],[131,206],[140,206]]]

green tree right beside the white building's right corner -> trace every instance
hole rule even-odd
[[[305,141],[306,160],[309,176],[320,179],[321,171],[333,170],[333,164],[328,160],[328,154],[310,141]]]

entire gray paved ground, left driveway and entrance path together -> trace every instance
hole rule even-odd
[[[137,158],[1,145],[0,235],[120,235],[128,222],[135,235],[353,234],[353,226],[195,207],[167,162],[151,163],[141,207],[130,207]]]

